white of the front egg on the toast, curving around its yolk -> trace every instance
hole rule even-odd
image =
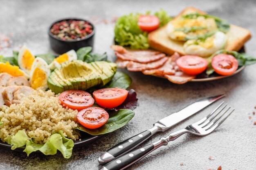
[[[220,31],[216,32],[213,35],[213,46],[210,48],[204,48],[203,46],[200,46],[200,44],[193,44],[194,41],[196,40],[186,41],[186,43],[183,46],[185,53],[191,55],[198,55],[200,57],[209,57],[214,52],[225,47],[227,37],[225,33],[222,33]]]

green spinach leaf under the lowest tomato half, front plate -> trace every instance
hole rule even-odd
[[[121,109],[119,111],[112,111],[109,113],[108,121],[97,129],[88,129],[83,126],[76,127],[76,129],[89,133],[90,135],[102,135],[115,131],[126,125],[135,115],[132,110]]]

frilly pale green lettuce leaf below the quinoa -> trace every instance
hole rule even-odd
[[[12,145],[12,150],[25,146],[23,152],[27,153],[27,156],[37,150],[45,155],[55,155],[59,150],[64,158],[70,158],[74,147],[74,141],[66,138],[62,131],[54,132],[45,144],[34,143],[34,139],[29,139],[25,131],[22,130],[18,131],[16,135],[6,137],[4,140]]]

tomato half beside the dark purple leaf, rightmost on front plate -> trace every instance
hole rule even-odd
[[[105,108],[114,108],[121,105],[128,95],[126,89],[105,88],[93,92],[98,105]]]

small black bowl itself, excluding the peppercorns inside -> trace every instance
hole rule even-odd
[[[90,33],[89,35],[87,35],[83,39],[79,39],[79,40],[76,40],[76,39],[74,39],[74,40],[63,40],[63,39],[60,39],[58,37],[55,37],[51,33],[51,28],[52,28],[53,24],[55,24],[57,22],[61,22],[63,20],[67,20],[67,21],[68,20],[82,20],[82,21],[88,22],[92,26],[92,33]],[[66,19],[55,21],[51,24],[51,26],[48,29],[50,46],[51,46],[52,50],[54,50],[54,52],[56,52],[58,54],[63,54],[65,52],[69,51],[69,50],[78,50],[79,48],[86,47],[86,46],[91,46],[93,48],[94,34],[95,34],[94,25],[91,22],[89,22],[87,20],[80,19],[80,18],[66,18]]]

